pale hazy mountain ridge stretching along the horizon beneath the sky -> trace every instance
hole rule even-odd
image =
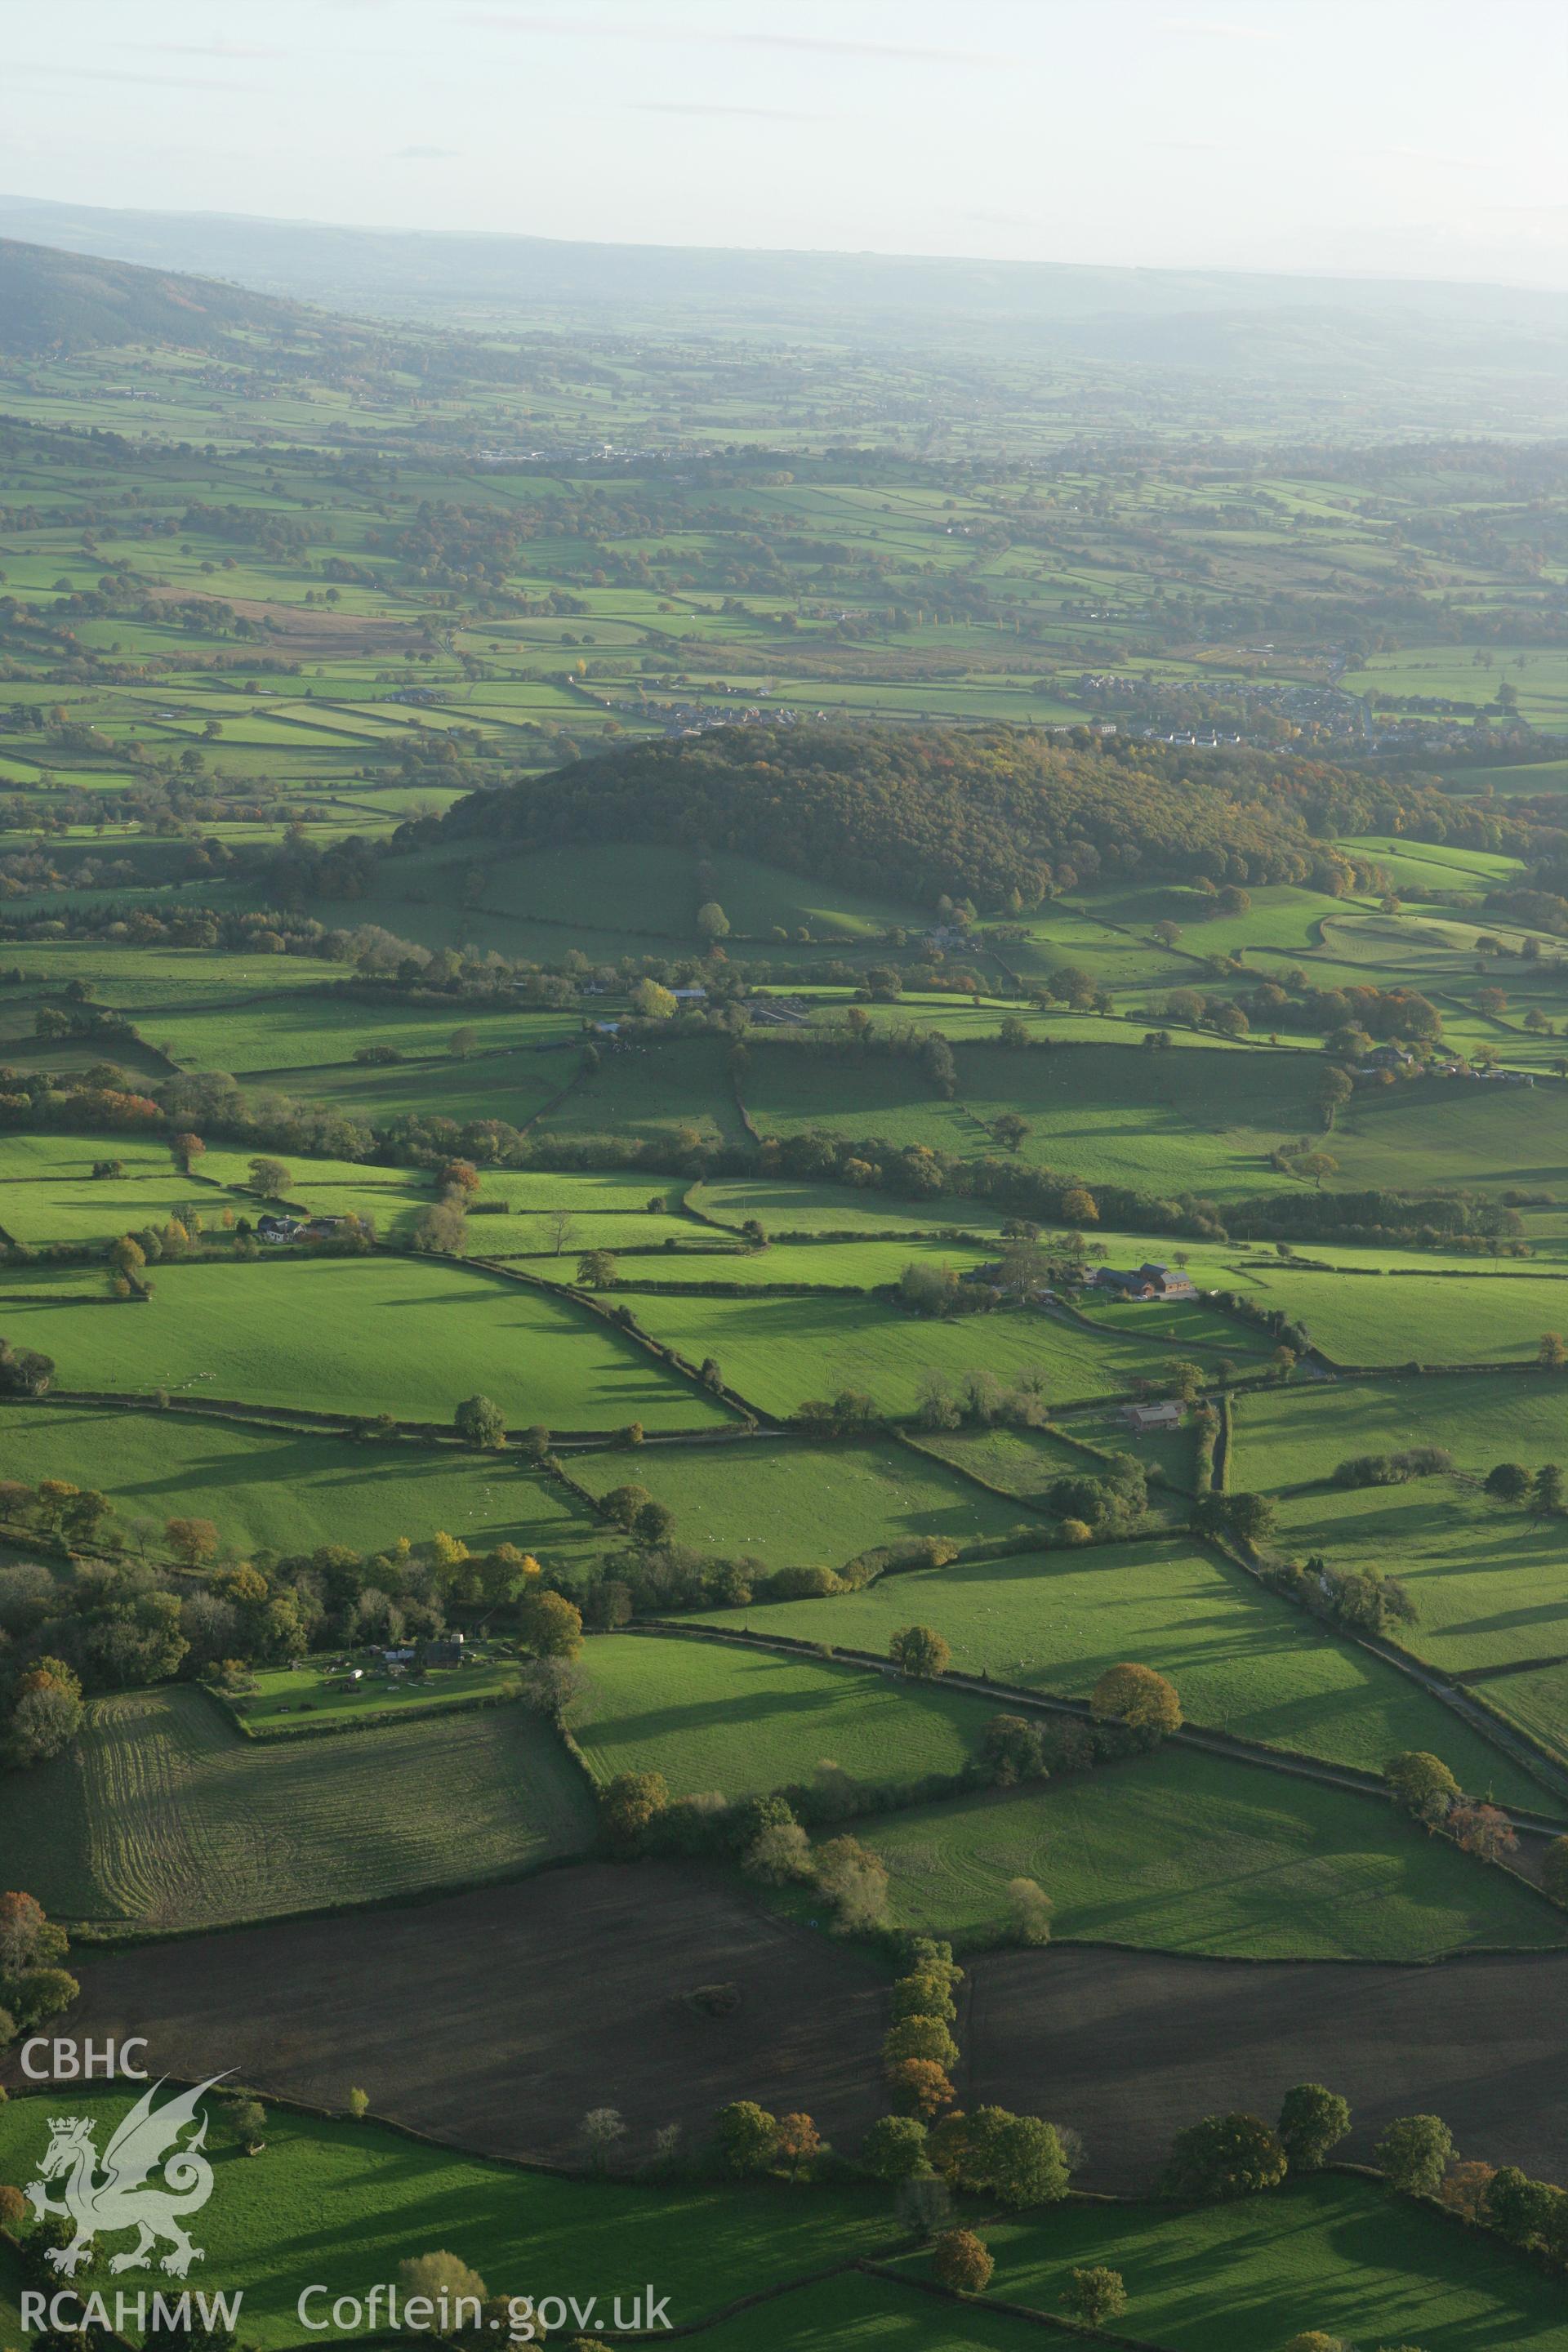
[[[21,195],[0,195],[0,233],[397,318],[487,308],[515,320],[543,313],[712,332],[743,320],[905,346],[985,332],[1060,355],[1166,367],[1244,362],[1248,372],[1460,358],[1493,369],[1568,362],[1568,294],[1497,285],[592,245],[230,212],[122,212]]]

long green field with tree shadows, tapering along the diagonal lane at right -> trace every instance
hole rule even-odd
[[[957,1668],[1065,1696],[1133,1658],[1175,1682],[1194,1724],[1368,1771],[1401,1748],[1429,1748],[1465,1788],[1544,1802],[1523,1771],[1394,1668],[1180,1543],[922,1569],[837,1599],[752,1609],[748,1621],[879,1656],[896,1628],[933,1625]]]

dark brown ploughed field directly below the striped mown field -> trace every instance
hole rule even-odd
[[[284,2098],[371,2110],[501,2157],[581,2164],[618,2107],[644,2138],[712,2110],[806,2107],[853,2145],[884,2107],[884,1978],[701,1872],[583,1863],[397,1910],[125,1952],[73,1952],[63,2032],[146,2034],[146,2065],[230,2067]],[[736,1985],[731,2016],[689,1994]]]

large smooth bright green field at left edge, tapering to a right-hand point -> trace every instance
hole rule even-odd
[[[148,1305],[26,1305],[0,1282],[0,1329],[40,1348],[61,1388],[237,1397],[451,1421],[475,1390],[508,1425],[703,1428],[726,1418],[597,1317],[517,1282],[421,1258],[162,1265]],[[80,1275],[78,1275],[80,1284]]]

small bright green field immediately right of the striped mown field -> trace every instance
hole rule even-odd
[[[769,1658],[677,1635],[604,1635],[585,1651],[592,1696],[574,1719],[602,1780],[661,1771],[675,1797],[762,1795],[835,1764],[851,1780],[954,1773],[992,1708],[863,1665]]]

